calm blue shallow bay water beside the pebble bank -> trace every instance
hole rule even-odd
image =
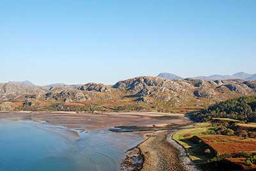
[[[94,130],[76,138],[61,127],[27,121],[0,121],[0,171],[119,170],[136,133]]]

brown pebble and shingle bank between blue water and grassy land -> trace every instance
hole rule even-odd
[[[154,131],[145,140],[125,153],[121,164],[124,171],[200,171],[186,151],[172,139],[175,131]]]

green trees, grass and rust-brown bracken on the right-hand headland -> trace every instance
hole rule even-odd
[[[177,131],[173,139],[196,165],[207,171],[256,169],[256,96],[216,103],[190,115],[200,123]]]

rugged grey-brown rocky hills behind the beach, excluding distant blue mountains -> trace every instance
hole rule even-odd
[[[0,84],[1,110],[188,112],[229,98],[256,94],[256,82],[136,77],[115,85]]]

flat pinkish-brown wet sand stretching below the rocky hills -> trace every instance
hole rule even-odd
[[[0,119],[45,121],[47,123],[67,126],[67,128],[84,128],[102,130],[115,126],[166,126],[190,123],[183,114],[164,114],[152,112],[127,112],[88,114],[75,112],[10,112],[0,113]],[[167,118],[167,119],[166,119]]]

